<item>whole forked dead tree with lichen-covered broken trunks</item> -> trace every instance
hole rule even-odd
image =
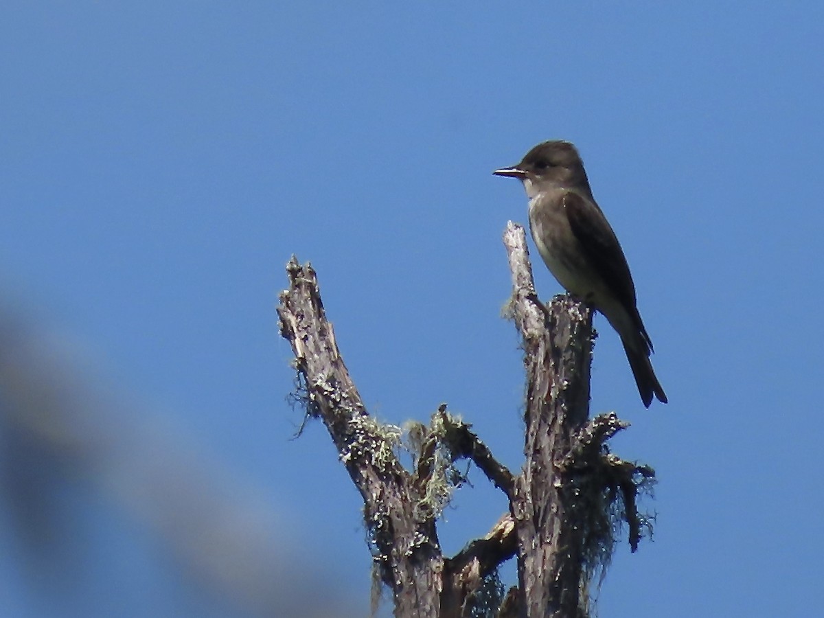
[[[586,616],[582,590],[593,560],[603,562],[611,550],[612,505],[630,524],[633,550],[648,525],[637,513],[635,495],[652,469],[621,461],[604,447],[628,425],[615,414],[588,421],[590,309],[571,297],[544,307],[532,283],[523,228],[509,223],[504,245],[527,368],[526,461],[517,476],[494,459],[470,425],[447,414],[446,405],[428,427],[416,426],[414,443],[406,445],[414,470],[401,466],[400,430],[367,413],[326,320],[315,271],[294,258],[287,266],[289,288],[278,314],[281,334],[295,353],[300,396],[307,414],[322,419],[363,497],[377,573],[393,592],[399,618],[477,616],[484,578],[513,555],[518,587],[503,601],[500,618]],[[474,461],[507,494],[510,513],[484,539],[446,558],[436,520],[448,486],[461,482],[450,467],[461,458]]]

